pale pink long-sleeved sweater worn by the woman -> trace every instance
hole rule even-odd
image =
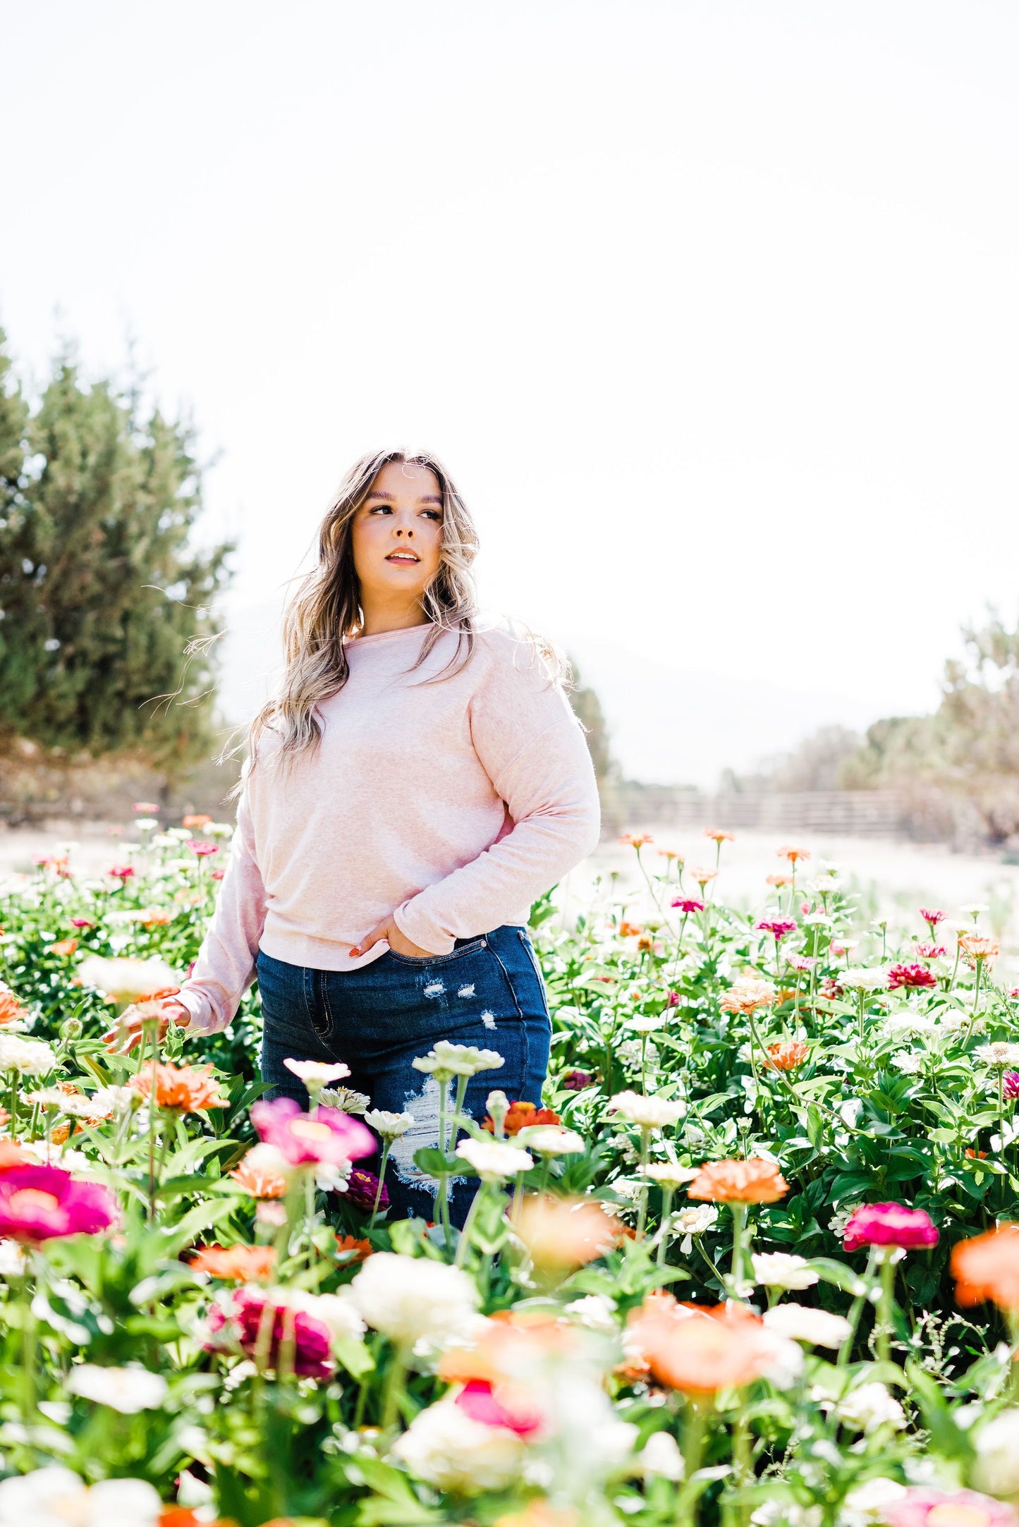
[[[319,745],[277,770],[264,733],[244,770],[215,913],[180,991],[188,1032],[225,1029],[258,950],[290,965],[357,970],[350,948],[390,915],[448,954],[458,938],[526,924],[532,902],[593,852],[594,768],[562,686],[506,626],[431,626],[344,638],[350,676],[318,707]],[[455,660],[442,683],[425,684]]]

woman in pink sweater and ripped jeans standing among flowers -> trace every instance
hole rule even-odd
[[[287,1058],[342,1061],[345,1087],[412,1115],[390,1157],[396,1217],[434,1217],[414,1151],[438,1142],[438,1084],[412,1061],[437,1040],[503,1060],[471,1078],[472,1116],[492,1087],[541,1101],[550,1022],[527,918],[599,840],[564,664],[481,626],[475,551],[432,457],[351,467],[287,612],[280,693],[251,727],[215,915],[163,1008],[163,1032],[214,1034],[257,977],[270,1096],[307,1106]],[[472,1190],[454,1179],[457,1223]]]

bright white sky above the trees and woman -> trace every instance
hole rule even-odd
[[[628,771],[937,702],[1016,612],[1011,0],[0,0],[0,322],[125,331],[240,536],[231,692],[362,450]],[[264,666],[264,664],[263,664]]]

